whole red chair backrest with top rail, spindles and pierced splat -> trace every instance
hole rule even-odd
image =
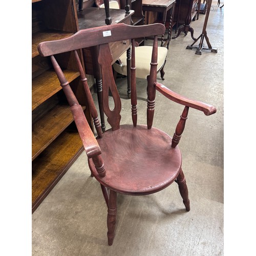
[[[75,59],[77,63],[78,70],[80,72],[80,79],[83,83],[84,91],[86,92],[89,108],[91,115],[93,117],[94,125],[98,136],[102,137],[102,131],[100,127],[100,122],[98,119],[98,114],[90,89],[88,86],[86,74],[84,73],[79,59],[77,50],[84,49],[88,47],[98,46],[98,63],[101,66],[102,74],[102,104],[103,111],[108,117],[108,122],[115,131],[119,129],[121,120],[121,100],[119,93],[116,88],[113,72],[112,72],[112,54],[110,51],[109,43],[121,40],[132,41],[132,68],[131,68],[131,87],[132,87],[132,119],[134,126],[137,125],[137,95],[136,95],[136,63],[135,63],[135,38],[155,36],[153,51],[152,51],[152,61],[151,61],[151,76],[148,80],[147,90],[148,90],[148,100],[147,100],[147,124],[148,129],[151,129],[154,117],[155,108],[155,95],[156,95],[156,74],[157,74],[157,49],[158,49],[158,36],[163,33],[165,28],[162,24],[145,25],[143,29],[140,26],[130,26],[126,24],[115,24],[111,26],[102,26],[87,30],[80,30],[74,35],[63,38],[60,40],[45,41],[38,45],[38,51],[42,56],[51,56],[54,69],[59,78],[60,84],[63,91],[66,94],[70,106],[79,105],[74,93],[72,92],[65,75],[58,66],[58,63],[53,55],[74,51]],[[111,110],[109,106],[109,93],[111,92],[114,100],[114,109]]]

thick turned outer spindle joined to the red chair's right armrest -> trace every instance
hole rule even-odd
[[[157,48],[158,48],[158,37],[154,37],[154,44],[151,58],[151,69],[150,77],[147,81],[147,129],[151,129],[153,124],[154,112],[155,112],[155,98],[156,98],[156,87],[157,81]]]

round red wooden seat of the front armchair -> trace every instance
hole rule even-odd
[[[97,138],[106,176],[100,177],[92,159],[89,166],[104,186],[127,195],[147,195],[167,187],[178,176],[182,157],[172,138],[146,125],[121,125]]]

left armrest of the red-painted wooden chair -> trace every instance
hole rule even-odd
[[[99,144],[84,116],[82,107],[80,105],[73,105],[70,108],[88,158],[100,155]]]

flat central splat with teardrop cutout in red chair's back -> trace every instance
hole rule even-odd
[[[103,84],[103,110],[108,117],[108,122],[111,125],[113,131],[119,129],[121,120],[121,99],[116,88],[112,63],[113,58],[110,51],[109,44],[103,44],[99,46],[99,64],[101,65],[102,72],[102,84]],[[110,110],[109,106],[109,91],[114,99],[115,107]]]

